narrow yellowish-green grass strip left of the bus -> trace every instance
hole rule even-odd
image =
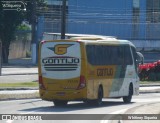
[[[38,87],[38,82],[0,83],[0,87]]]

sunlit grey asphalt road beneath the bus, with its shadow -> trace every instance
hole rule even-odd
[[[0,114],[124,114],[143,107],[144,105],[159,103],[160,93],[148,93],[134,96],[132,103],[124,104],[122,99],[104,99],[101,107],[90,106],[83,102],[69,102],[66,107],[54,107],[52,102],[41,99],[12,100],[0,102]],[[143,110],[140,114],[145,113]],[[152,112],[150,112],[152,113]],[[70,120],[63,120],[60,123],[72,123]],[[7,123],[17,123],[18,121],[7,121]],[[48,121],[56,122],[57,121]],[[82,121],[78,121],[82,122]],[[92,123],[107,123],[107,121],[83,121]],[[38,122],[36,122],[38,123]]]

